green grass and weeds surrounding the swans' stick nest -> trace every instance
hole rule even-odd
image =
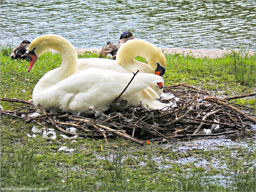
[[[27,72],[28,62],[12,60],[11,52],[10,46],[1,47],[1,97],[5,98],[29,100],[38,80],[49,70],[60,66],[62,61],[60,54],[46,52],[38,58],[31,72]],[[86,52],[78,57],[98,55]],[[145,61],[144,58],[137,59]],[[167,86],[183,81],[199,87],[204,80],[203,88],[220,96],[230,95],[238,86],[230,67],[232,57],[228,54],[215,59],[166,54],[166,59],[164,80]],[[255,70],[253,73],[255,77]],[[254,92],[255,83],[246,80],[244,84],[241,82],[236,94]],[[232,101],[255,107],[254,98]],[[5,110],[19,107],[2,101],[1,105]],[[28,137],[34,123],[19,121],[12,124],[14,120],[17,119],[1,116],[1,188],[48,187],[48,191],[255,191],[254,142],[218,149],[212,149],[212,144],[208,144],[207,148],[184,151],[180,150],[176,141],[166,145],[152,143],[138,146],[122,139],[109,139],[110,143],[120,146],[115,150],[106,146],[104,139],[67,140],[57,134],[56,140],[47,140],[40,133],[36,134],[36,138]],[[58,151],[62,146],[76,150]]]

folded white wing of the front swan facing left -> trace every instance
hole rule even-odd
[[[40,105],[47,110],[57,107],[75,114],[90,112],[90,106],[104,111],[124,90],[132,77],[133,74],[90,68],[73,74],[46,90],[33,92],[33,101],[35,106]],[[127,99],[155,82],[162,82],[162,77],[154,74],[136,74],[120,99]]]

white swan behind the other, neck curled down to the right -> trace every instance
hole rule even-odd
[[[148,64],[139,62],[134,58],[141,56],[146,59]],[[81,58],[78,59],[76,72],[91,67],[118,71],[120,73],[131,73],[140,70],[140,73],[164,75],[166,67],[166,58],[162,51],[153,44],[145,40],[129,40],[123,44],[117,51],[116,60],[104,58]],[[150,87],[158,94],[163,92],[163,83],[158,86],[151,84]]]

